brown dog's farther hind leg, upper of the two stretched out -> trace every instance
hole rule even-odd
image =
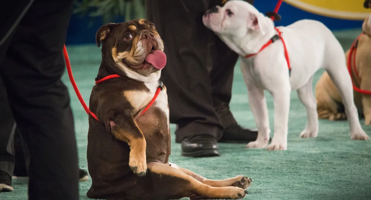
[[[193,171],[183,169],[179,166],[177,166],[174,163],[169,163],[171,167],[178,169],[179,171],[187,174],[188,176],[193,177],[194,179],[200,181],[203,184],[207,184],[208,186],[211,187],[227,187],[227,186],[235,186],[235,187],[240,187],[242,189],[247,189],[248,187],[251,186],[252,179],[246,177],[246,176],[236,176],[230,179],[224,179],[224,180],[211,180],[211,179],[206,179]]]

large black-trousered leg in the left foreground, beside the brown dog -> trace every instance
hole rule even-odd
[[[0,66],[14,118],[30,150],[30,200],[79,198],[73,115],[60,80],[72,2],[35,0]]]

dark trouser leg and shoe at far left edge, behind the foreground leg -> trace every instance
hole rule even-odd
[[[0,77],[0,192],[13,191],[14,130],[16,127],[10,110],[4,83]]]

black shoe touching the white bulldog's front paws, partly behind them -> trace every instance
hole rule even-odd
[[[219,142],[224,143],[249,143],[257,138],[257,130],[245,129],[239,124],[226,128]]]

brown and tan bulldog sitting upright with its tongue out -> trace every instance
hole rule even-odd
[[[169,108],[166,87],[159,90],[166,56],[154,24],[144,19],[106,24],[96,33],[96,43],[98,47],[102,43],[102,63],[89,102],[87,158],[92,186],[87,196],[243,198],[252,181],[245,176],[210,180],[168,163]]]

